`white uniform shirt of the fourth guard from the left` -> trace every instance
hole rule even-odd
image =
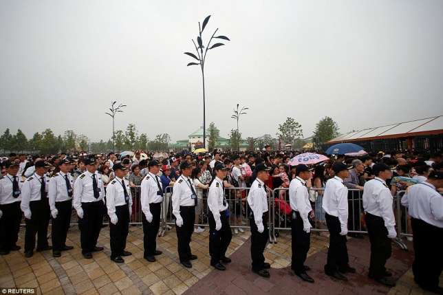
[[[99,196],[96,199],[94,197],[94,186],[92,184],[92,175],[95,175],[97,180],[97,187],[100,190]],[[74,197],[72,205],[74,209],[78,210],[81,208],[82,203],[91,203],[93,201],[104,201],[105,197],[105,186],[103,186],[102,177],[98,172],[92,174],[89,171],[85,171],[80,174],[76,182],[74,182]]]

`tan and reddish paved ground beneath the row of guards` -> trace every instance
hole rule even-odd
[[[21,230],[23,236],[24,230]],[[127,250],[133,256],[125,257],[126,263],[116,264],[109,259],[109,229],[103,228],[99,244],[105,251],[94,254],[94,259],[83,259],[80,252],[80,234],[76,226],[69,230],[68,244],[74,250],[63,252],[54,259],[52,252],[36,253],[30,259],[23,251],[0,256],[0,287],[36,287],[39,294],[423,294],[413,283],[411,271],[412,253],[397,250],[388,267],[400,277],[397,287],[388,289],[376,285],[366,277],[369,264],[369,243],[350,240],[349,253],[359,274],[349,276],[351,283],[336,283],[321,270],[325,263],[327,238],[312,235],[312,246],[307,264],[313,270],[316,284],[303,283],[288,271],[290,265],[290,236],[282,234],[277,244],[266,249],[266,260],[271,263],[272,277],[260,278],[249,270],[249,232],[235,235],[228,249],[235,263],[226,272],[213,270],[209,265],[208,232],[193,234],[191,248],[199,259],[188,270],[178,263],[175,230],[158,240],[158,248],[164,254],[158,261],[149,263],[142,258],[142,229],[130,227]],[[23,239],[19,239],[23,247]],[[202,279],[204,278],[204,279]],[[443,282],[443,278],[441,280]]]

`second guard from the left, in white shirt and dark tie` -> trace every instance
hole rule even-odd
[[[21,210],[25,215],[25,257],[34,255],[35,234],[37,234],[37,252],[51,250],[47,244],[47,226],[50,223],[51,210],[47,199],[47,187],[50,179],[46,175],[50,164],[35,162],[35,173],[26,179],[21,190]]]

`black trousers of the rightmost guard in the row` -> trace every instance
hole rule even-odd
[[[443,270],[443,228],[437,228],[421,219],[411,218],[415,252],[412,271],[418,285],[438,287]]]

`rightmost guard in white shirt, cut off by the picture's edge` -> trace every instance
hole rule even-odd
[[[439,278],[443,270],[443,172],[435,171],[420,184],[409,186],[402,205],[409,207],[415,257],[414,281],[426,291],[443,294]]]

